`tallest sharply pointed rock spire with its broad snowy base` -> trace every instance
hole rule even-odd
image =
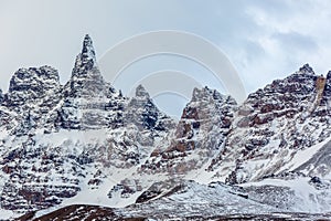
[[[97,129],[122,125],[122,109],[127,99],[104,81],[88,35],[84,39],[63,95],[56,113],[56,128]]]

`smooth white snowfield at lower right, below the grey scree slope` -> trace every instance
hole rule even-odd
[[[317,177],[289,176],[241,185],[252,200],[289,212],[331,211],[331,182]]]

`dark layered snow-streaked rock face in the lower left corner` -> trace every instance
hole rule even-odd
[[[38,136],[21,137],[14,140],[20,146],[2,152],[3,209],[22,212],[45,209],[81,190],[79,179],[86,175],[81,155],[72,155],[65,144],[54,147],[38,139]]]

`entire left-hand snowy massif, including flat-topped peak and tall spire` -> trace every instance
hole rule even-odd
[[[0,123],[1,207],[17,212],[97,189],[109,167],[145,161],[174,127],[141,86],[129,99],[104,81],[88,35],[64,86],[50,66],[15,72]]]

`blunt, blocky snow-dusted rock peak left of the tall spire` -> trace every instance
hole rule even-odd
[[[4,118],[17,120],[12,133],[23,136],[40,128],[50,128],[51,113],[62,98],[58,73],[50,66],[20,69],[10,81],[4,94],[2,110]],[[11,116],[11,117],[10,117]]]

